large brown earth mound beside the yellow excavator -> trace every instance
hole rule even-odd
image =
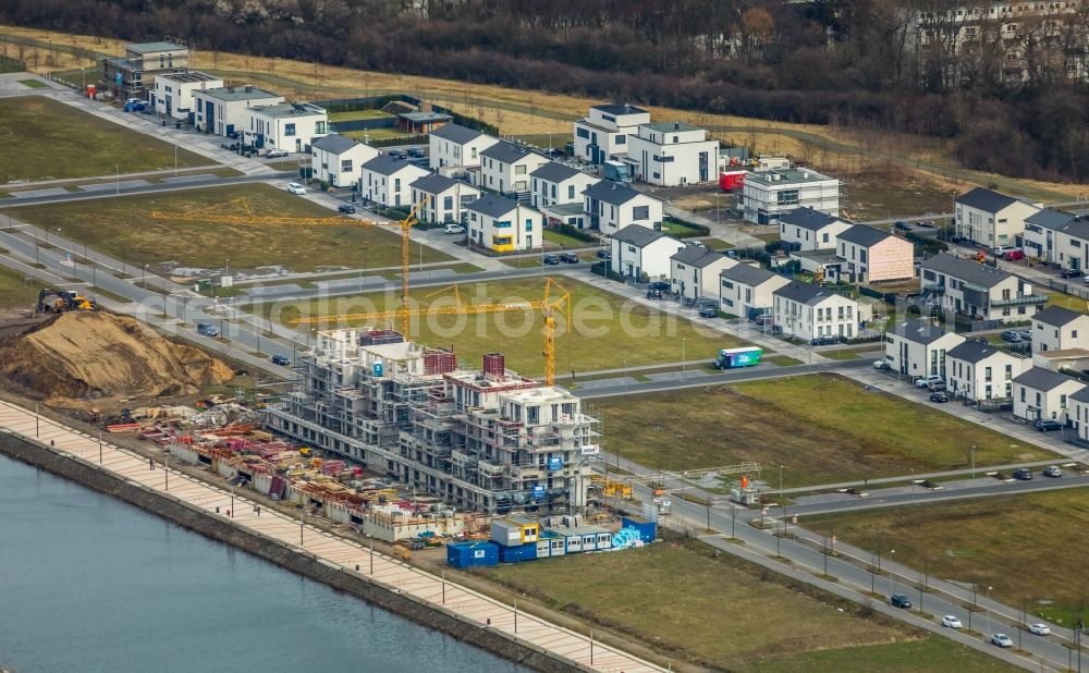
[[[65,313],[0,346],[0,377],[51,402],[196,393],[231,380],[223,362],[107,313]]]

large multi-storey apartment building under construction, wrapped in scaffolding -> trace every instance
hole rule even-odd
[[[450,351],[389,330],[317,333],[272,430],[363,463],[464,509],[580,512],[597,419],[561,388],[510,371],[501,354],[461,369]]]

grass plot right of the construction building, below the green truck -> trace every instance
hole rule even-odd
[[[601,399],[590,414],[605,449],[647,467],[756,461],[783,465],[788,487],[963,468],[972,445],[977,466],[1054,455],[828,374]]]

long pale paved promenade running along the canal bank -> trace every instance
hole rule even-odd
[[[212,487],[176,470],[163,468],[162,465],[156,464],[154,469],[149,469],[148,460],[139,454],[37,416],[20,406],[0,402],[0,429],[28,439],[37,438],[42,443],[54,445],[54,450],[61,454],[99,464],[102,469],[129,481],[160,493],[169,493],[204,510],[208,516],[232,521],[247,533],[278,540],[299,552],[325,560],[346,573],[370,578],[436,607],[442,605],[476,622],[481,628],[505,632],[591,670],[625,673],[663,670],[596,641],[592,644],[591,665],[591,641],[580,634],[516,611],[512,605],[403,561],[371,552],[362,544],[306,525],[303,519],[267,509],[261,510],[258,515],[254,512],[255,503],[244,495]]]

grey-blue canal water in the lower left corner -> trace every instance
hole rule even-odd
[[[0,455],[0,669],[526,669]]]

